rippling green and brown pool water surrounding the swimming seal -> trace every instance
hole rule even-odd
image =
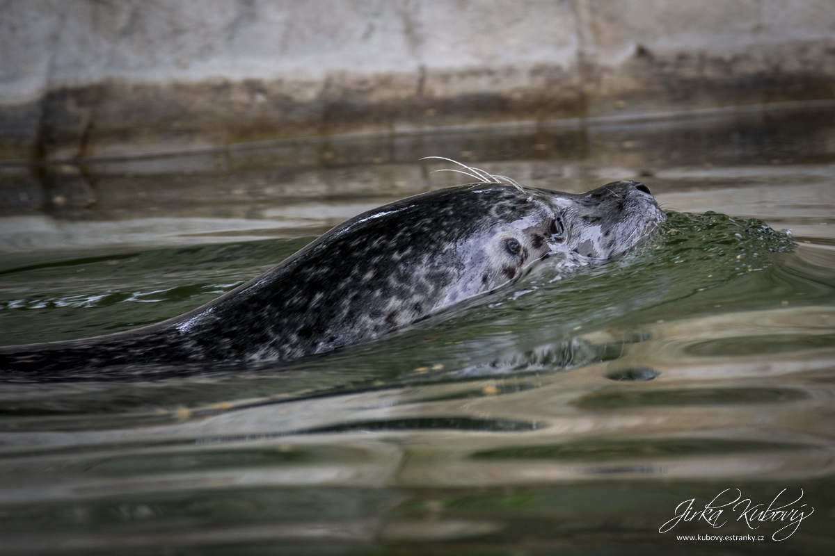
[[[570,192],[640,178],[671,212],[619,261],[571,275],[543,265],[386,341],[302,363],[7,376],[0,553],[828,553],[825,107],[14,174],[10,198],[46,208],[21,201],[0,218],[2,343],[184,313],[343,218],[455,183],[414,162],[428,154]],[[788,518],[749,526],[731,505],[659,533],[680,503],[695,511],[731,489],[715,502],[729,503],[737,488],[763,508],[802,492],[788,508],[814,513],[779,542]]]

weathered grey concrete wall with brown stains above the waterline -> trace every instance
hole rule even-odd
[[[832,98],[831,0],[6,0],[0,158]]]

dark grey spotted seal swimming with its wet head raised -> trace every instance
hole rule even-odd
[[[664,221],[643,183],[423,193],[342,223],[259,278],[145,328],[0,348],[0,376],[124,364],[290,361],[381,338],[558,253],[615,258]]]

